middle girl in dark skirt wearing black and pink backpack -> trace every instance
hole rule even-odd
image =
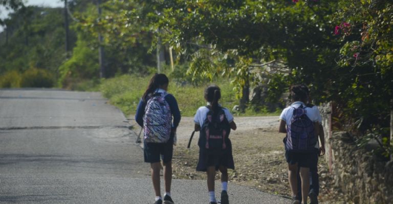
[[[201,131],[198,141],[199,161],[197,171],[207,173],[207,188],[210,204],[216,204],[214,194],[215,172],[221,172],[221,203],[228,204],[228,168],[234,169],[232,144],[228,138],[230,130],[236,130],[233,116],[228,109],[221,107],[221,91],[212,85],[205,89],[207,106],[200,107],[194,116],[195,131]]]

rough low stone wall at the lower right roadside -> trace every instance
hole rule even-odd
[[[359,204],[393,203],[393,161],[373,157],[370,151],[356,147],[345,132],[335,132],[332,145],[334,186],[348,201]]]

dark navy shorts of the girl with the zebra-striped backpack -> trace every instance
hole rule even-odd
[[[145,162],[156,163],[160,162],[160,156],[163,163],[168,163],[172,161],[173,155],[173,142],[168,141],[166,143],[143,143],[143,152]]]

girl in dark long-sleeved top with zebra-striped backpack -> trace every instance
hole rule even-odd
[[[155,204],[174,203],[170,194],[173,138],[181,116],[176,98],[166,92],[168,84],[165,74],[155,74],[139,101],[135,115],[135,120],[143,127],[144,160],[150,163],[151,180],[156,192]],[[160,156],[164,166],[164,200],[160,190]]]

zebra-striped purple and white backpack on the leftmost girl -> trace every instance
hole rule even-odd
[[[146,142],[164,143],[169,140],[172,113],[165,100],[166,92],[154,93],[147,100],[143,116],[143,134]]]

